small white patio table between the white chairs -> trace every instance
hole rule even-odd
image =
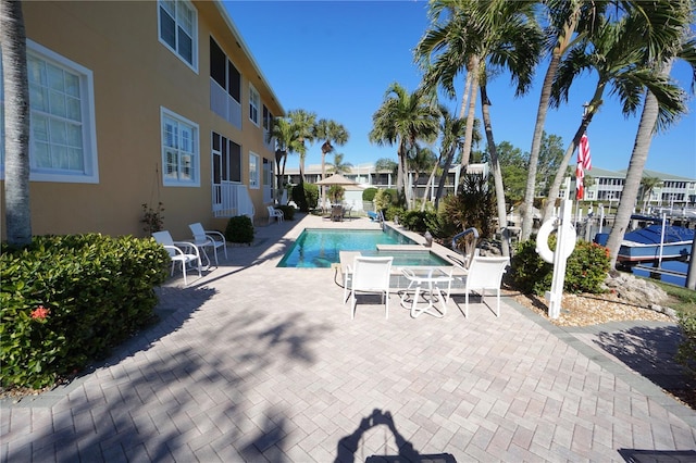
[[[409,280],[409,286],[401,293],[401,306],[411,310],[411,317],[417,318],[423,313],[428,313],[440,318],[447,314],[447,302],[453,280],[451,270],[446,272],[439,267],[403,267],[401,274]],[[443,295],[445,286],[447,293]],[[422,296],[425,305],[419,305],[419,295]],[[437,302],[442,310],[435,305]]]

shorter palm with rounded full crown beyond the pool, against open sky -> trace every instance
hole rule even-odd
[[[410,191],[406,188],[408,154],[418,140],[432,142],[437,136],[437,113],[421,91],[409,93],[401,85],[394,83],[385,93],[382,107],[372,115],[373,128],[370,141],[397,145],[398,172],[397,192],[410,203]]]

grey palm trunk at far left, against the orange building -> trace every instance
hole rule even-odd
[[[4,62],[4,203],[8,242],[32,242],[29,208],[29,84],[22,2],[0,2],[0,51]]]

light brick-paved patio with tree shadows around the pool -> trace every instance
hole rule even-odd
[[[413,320],[396,295],[351,322],[333,270],[275,266],[306,226],[365,222],[260,227],[161,288],[164,320],[109,362],[2,403],[0,460],[696,461],[696,413],[617,360],[673,326],[564,330],[509,299],[464,318],[463,297]]]

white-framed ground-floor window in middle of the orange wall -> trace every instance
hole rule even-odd
[[[200,185],[198,124],[164,108],[162,120],[162,184],[164,186]]]

